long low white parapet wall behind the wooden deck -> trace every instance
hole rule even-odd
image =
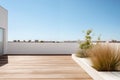
[[[72,54],[78,43],[8,43],[7,54]]]

